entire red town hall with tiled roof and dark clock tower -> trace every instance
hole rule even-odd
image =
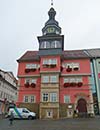
[[[64,50],[64,35],[50,8],[38,36],[39,50],[18,60],[18,107],[27,107],[40,119],[94,115],[91,57],[87,50]]]

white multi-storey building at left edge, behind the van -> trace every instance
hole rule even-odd
[[[0,113],[7,112],[17,100],[17,79],[12,72],[0,70]]]

